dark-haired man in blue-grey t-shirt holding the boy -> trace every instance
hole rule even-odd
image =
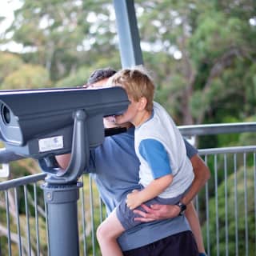
[[[110,70],[96,70],[90,76],[86,86],[104,86],[112,75]],[[105,78],[104,74],[106,74]],[[114,126],[111,118],[106,119],[105,123],[108,127]],[[114,210],[118,202],[126,197],[126,194],[138,189],[139,162],[134,152],[133,129],[128,129],[125,134],[106,138],[102,146],[98,146],[93,151],[91,160],[94,164],[90,170],[86,170],[86,172],[91,172],[94,176],[108,213]],[[198,190],[205,185],[207,179],[210,178],[210,171],[202,159],[199,158],[194,147],[186,143],[186,150],[194,167],[195,176],[190,191],[182,198],[179,205],[151,206],[151,208],[143,206],[146,212],[138,211],[137,213],[142,216],[141,218],[138,217],[138,220],[145,223],[122,234],[118,239],[124,255],[164,256],[174,254],[174,251],[178,251],[178,254],[182,256],[189,255],[184,250],[194,246],[194,241],[188,240],[190,244],[186,245],[184,245],[183,241],[186,241],[186,237],[189,235],[190,226],[197,238],[198,250],[202,252],[201,255],[204,255],[198,218],[194,218],[194,221],[189,226],[182,213],[186,206],[193,207],[192,209],[194,210],[194,206],[190,204],[190,201],[198,193]],[[57,160],[59,165],[65,169],[69,162],[69,155],[58,156]],[[152,220],[157,221],[151,222]]]

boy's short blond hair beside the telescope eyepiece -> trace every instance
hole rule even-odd
[[[128,96],[132,97],[135,102],[145,97],[146,110],[151,111],[153,109],[155,86],[145,69],[135,66],[131,69],[120,70],[110,78],[110,81],[113,86],[123,87]]]

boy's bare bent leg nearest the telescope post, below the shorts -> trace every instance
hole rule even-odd
[[[117,238],[124,232],[122,224],[118,221],[115,210],[105,219],[97,229],[98,243],[102,256],[122,256],[122,250]]]

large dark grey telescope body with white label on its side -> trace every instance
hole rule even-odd
[[[32,158],[69,153],[74,113],[82,110],[87,146],[95,147],[104,140],[102,118],[122,113],[129,103],[121,87],[2,90],[0,139],[7,150]]]

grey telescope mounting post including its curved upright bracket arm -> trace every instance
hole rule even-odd
[[[86,113],[74,113],[74,132],[70,165],[60,174],[49,174],[42,186],[47,210],[50,256],[78,256],[78,207],[82,175],[90,159]]]

